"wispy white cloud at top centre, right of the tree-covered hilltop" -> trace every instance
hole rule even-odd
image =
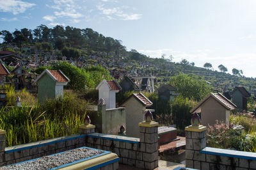
[[[104,4],[100,4],[96,6],[98,10],[103,15],[107,15],[106,19],[120,19],[120,20],[138,20],[141,19],[141,14],[140,13],[125,13],[122,8],[120,7],[114,7],[114,8],[105,8]],[[123,6],[123,9],[127,8],[127,6]],[[115,17],[111,16],[114,15]]]

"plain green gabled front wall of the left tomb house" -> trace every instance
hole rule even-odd
[[[38,102],[45,102],[47,98],[55,98],[55,83],[46,73],[38,80]]]

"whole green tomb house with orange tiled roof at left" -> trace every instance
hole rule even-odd
[[[63,86],[70,80],[61,70],[44,70],[35,80],[38,88],[38,102],[47,98],[63,97]]]

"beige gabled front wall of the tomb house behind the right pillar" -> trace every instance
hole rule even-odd
[[[201,106],[202,125],[214,125],[216,120],[224,121],[228,125],[229,111],[228,114],[226,111],[227,109],[216,102],[216,100],[209,98],[209,100],[204,102],[204,104]]]

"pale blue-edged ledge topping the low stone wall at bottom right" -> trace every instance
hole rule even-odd
[[[244,158],[248,160],[256,160],[256,153],[248,151],[236,151],[236,150],[224,150],[219,148],[206,147],[200,150],[200,153],[206,153],[209,155],[219,155],[223,157],[234,157],[234,158]]]

